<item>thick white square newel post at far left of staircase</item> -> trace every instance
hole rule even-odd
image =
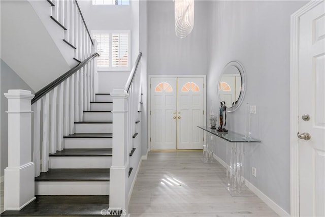
[[[31,162],[31,99],[28,90],[10,89],[8,99],[8,167],[5,210],[20,210],[35,199],[35,166]]]

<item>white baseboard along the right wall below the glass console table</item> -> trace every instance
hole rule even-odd
[[[229,170],[229,165],[226,164],[221,158],[213,154],[213,158],[217,160],[224,168]],[[266,203],[273,211],[275,211],[279,216],[290,216],[284,209],[282,209],[278,204],[266,196],[263,192],[259,191],[252,183],[247,181],[244,177],[241,177],[242,180],[245,180],[246,187],[253,192],[259,199]]]

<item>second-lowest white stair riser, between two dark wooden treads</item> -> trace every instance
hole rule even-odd
[[[50,157],[50,169],[108,169],[112,157]]]

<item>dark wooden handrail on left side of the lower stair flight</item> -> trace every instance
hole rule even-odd
[[[54,89],[56,86],[58,86],[60,83],[63,81],[67,80],[70,76],[72,76],[74,73],[76,73],[78,70],[80,70],[83,66],[85,66],[90,60],[95,58],[96,56],[99,56],[100,54],[98,53],[93,53],[91,54],[88,58],[83,60],[80,64],[75,66],[74,68],[70,69],[68,72],[64,73],[42,89],[36,92],[34,99],[31,100],[31,104],[35,103],[39,99],[41,99],[44,95],[46,95],[49,91]]]

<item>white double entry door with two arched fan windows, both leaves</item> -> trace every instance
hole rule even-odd
[[[205,77],[150,78],[151,150],[203,148]]]

